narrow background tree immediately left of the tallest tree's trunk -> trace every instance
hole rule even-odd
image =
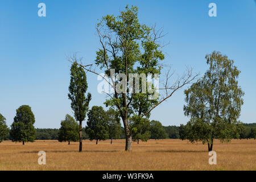
[[[108,120],[109,138],[111,140],[110,143],[112,144],[113,139],[118,139],[121,135],[120,118],[118,117],[117,111],[114,109],[106,111],[106,117]]]

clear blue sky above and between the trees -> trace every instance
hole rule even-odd
[[[46,4],[46,17],[38,16],[38,4]],[[217,5],[217,17],[209,17],[208,5]],[[30,105],[35,127],[59,128],[65,114],[72,114],[68,100],[69,69],[66,56],[79,51],[84,63],[93,63],[100,48],[97,19],[117,15],[127,5],[139,8],[139,20],[163,27],[168,34],[166,60],[175,76],[192,67],[207,70],[205,55],[220,51],[241,70],[239,84],[245,92],[241,121],[255,119],[256,5],[254,0],[226,1],[0,1],[0,113],[10,126],[20,105]],[[93,105],[105,95],[97,93],[97,77],[87,73]],[[152,112],[163,125],[188,121],[183,114],[184,93],[179,90]],[[85,126],[84,122],[84,125]]]

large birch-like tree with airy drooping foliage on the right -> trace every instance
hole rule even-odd
[[[237,125],[244,93],[238,86],[240,71],[233,60],[216,51],[205,59],[208,71],[184,91],[184,114],[191,118],[187,124],[188,139],[207,143],[212,151],[214,138],[228,142],[239,137]]]

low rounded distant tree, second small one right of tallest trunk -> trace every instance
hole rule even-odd
[[[166,131],[164,131],[162,123],[152,120],[150,122],[151,138],[160,139],[166,138]]]

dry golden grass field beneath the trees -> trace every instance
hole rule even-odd
[[[124,151],[125,140],[84,140],[60,143],[36,140],[34,143],[0,143],[0,170],[256,170],[256,140],[215,140],[217,165],[210,165],[207,145],[187,140],[164,139],[133,143]],[[38,164],[38,151],[46,151],[46,165]]]

